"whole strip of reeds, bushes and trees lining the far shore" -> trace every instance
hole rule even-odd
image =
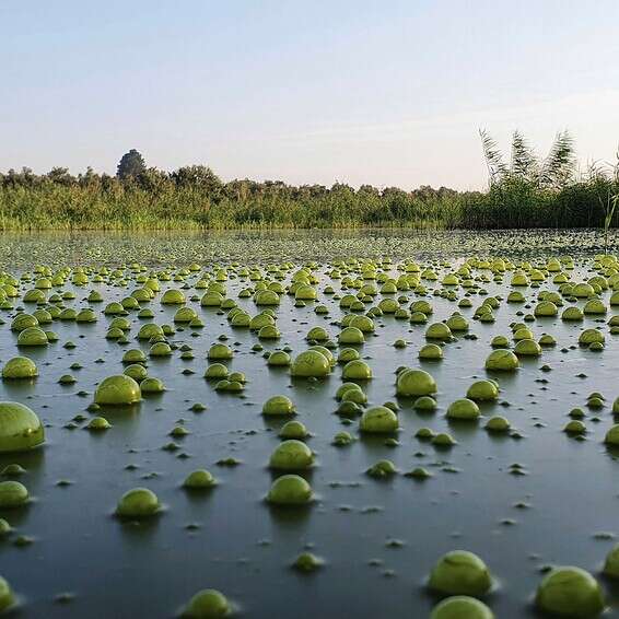
[[[422,186],[354,189],[335,184],[223,183],[209,167],[172,173],[147,167],[132,150],[118,174],[91,168],[73,176],[55,167],[0,174],[0,230],[354,227],[589,227],[615,225],[619,165],[577,174],[573,144],[560,133],[539,160],[514,133],[511,162],[481,133],[489,170],[486,191]],[[619,214],[619,213],[618,213]]]

